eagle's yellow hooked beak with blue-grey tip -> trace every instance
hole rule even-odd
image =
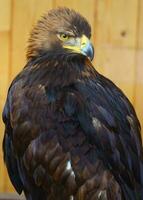
[[[71,45],[64,45],[64,48],[70,49],[75,53],[83,54],[87,56],[91,61],[94,58],[94,48],[90,40],[85,36],[82,35],[81,38],[76,38],[74,44]]]

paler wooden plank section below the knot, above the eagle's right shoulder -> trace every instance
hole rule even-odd
[[[117,84],[133,102],[135,50],[104,45],[98,51],[97,69]]]

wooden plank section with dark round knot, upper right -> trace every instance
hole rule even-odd
[[[105,0],[97,5],[96,42],[134,48],[138,0]]]

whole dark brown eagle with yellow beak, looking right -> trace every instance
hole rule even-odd
[[[143,200],[140,124],[91,60],[91,28],[68,8],[33,29],[3,111],[4,160],[27,200]]]

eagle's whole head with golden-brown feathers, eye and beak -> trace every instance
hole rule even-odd
[[[41,55],[84,56],[90,60],[94,49],[90,42],[91,27],[79,13],[69,8],[57,8],[46,13],[31,32],[27,58]]]

